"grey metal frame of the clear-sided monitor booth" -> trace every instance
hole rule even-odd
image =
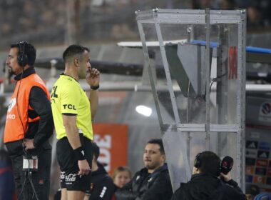
[[[140,33],[140,40],[143,44],[143,53],[146,63],[148,64],[148,74],[150,77],[150,85],[153,92],[153,98],[158,114],[160,128],[162,133],[166,131],[198,131],[206,134],[206,148],[210,144],[210,132],[225,132],[226,134],[236,133],[236,157],[235,164],[237,165],[236,181],[245,186],[245,40],[246,40],[246,14],[245,10],[236,11],[213,11],[213,10],[173,10],[173,9],[153,9],[150,11],[136,11],[136,20]],[[168,85],[168,91],[173,107],[175,123],[165,124],[160,112],[160,105],[157,91],[155,88],[155,74],[153,74],[152,66],[150,66],[150,57],[148,55],[148,46],[146,45],[145,33],[143,24],[154,24],[157,34],[160,53],[165,69],[165,76]],[[206,57],[210,55],[210,24],[237,24],[237,121],[236,124],[210,124],[210,96],[208,88],[210,84],[210,73],[206,79],[206,121],[205,124],[182,124],[177,111],[177,103],[173,91],[173,81],[170,77],[168,61],[165,54],[165,41],[161,34],[161,24],[204,24],[206,27]],[[205,61],[205,68],[210,70],[209,59]],[[231,132],[231,133],[229,133]],[[174,186],[173,186],[174,188]]]

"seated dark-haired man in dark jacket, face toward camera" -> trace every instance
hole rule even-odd
[[[161,139],[151,139],[143,154],[145,168],[116,191],[117,200],[168,200],[173,194]]]

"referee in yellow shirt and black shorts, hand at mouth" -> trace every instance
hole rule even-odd
[[[91,186],[93,129],[91,118],[98,107],[100,73],[91,68],[89,49],[71,45],[63,52],[65,71],[51,91],[53,122],[56,127],[56,154],[61,169],[63,199],[83,199]],[[88,97],[79,79],[91,87]]]

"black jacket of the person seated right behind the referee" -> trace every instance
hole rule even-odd
[[[86,191],[90,200],[111,200],[116,186],[111,177],[101,164],[98,163],[98,170],[91,172],[91,189]]]

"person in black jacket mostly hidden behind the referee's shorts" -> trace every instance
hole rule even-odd
[[[100,149],[96,143],[93,143],[93,159],[91,170],[91,188],[86,191],[85,199],[89,200],[111,200],[116,186],[112,178],[107,174],[103,165],[98,163]]]

